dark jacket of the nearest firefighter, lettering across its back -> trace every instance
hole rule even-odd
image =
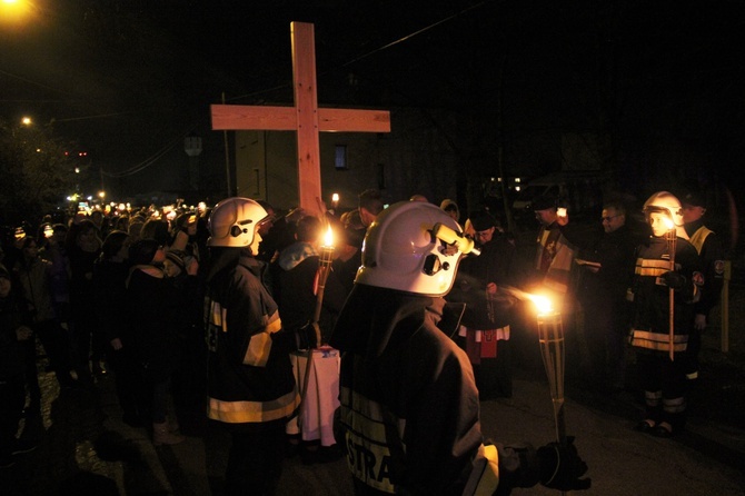
[[[443,305],[441,298],[355,285],[339,316],[331,337],[344,351],[339,442],[356,494],[460,495],[478,465],[478,391],[468,357],[436,327]],[[510,450],[505,459],[503,453],[497,457],[491,446],[491,469],[476,470],[488,493],[500,479],[517,480],[527,450]],[[537,476],[523,470],[520,484],[535,484]]]

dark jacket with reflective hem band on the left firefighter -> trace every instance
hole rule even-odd
[[[277,304],[261,266],[241,256],[208,281],[208,417],[228,424],[277,420],[299,403]]]

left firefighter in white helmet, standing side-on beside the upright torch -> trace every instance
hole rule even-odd
[[[271,495],[281,475],[285,425],[299,404],[277,304],[255,257],[267,211],[248,198],[220,201],[209,218],[208,409],[231,436],[227,495]]]

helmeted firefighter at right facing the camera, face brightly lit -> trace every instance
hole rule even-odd
[[[636,429],[670,437],[685,426],[685,354],[703,276],[698,254],[683,230],[681,201],[658,191],[644,204],[644,215],[652,236],[637,248],[628,294],[630,344],[646,405]]]

